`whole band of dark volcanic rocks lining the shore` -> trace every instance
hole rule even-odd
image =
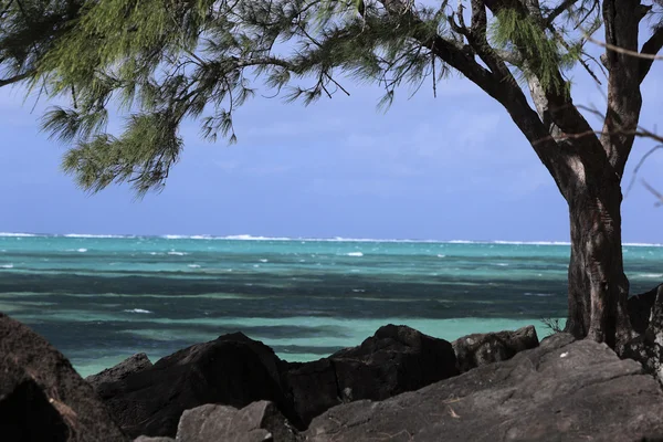
[[[0,314],[0,440],[663,441],[661,292],[631,298],[624,359],[534,327],[449,343],[387,325],[312,362],[235,333],[87,379]]]

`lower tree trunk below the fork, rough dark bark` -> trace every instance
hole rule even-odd
[[[571,227],[566,332],[619,349],[631,337],[621,249],[621,186],[604,168],[581,168],[566,194]]]

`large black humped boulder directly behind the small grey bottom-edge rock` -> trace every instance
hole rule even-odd
[[[97,392],[131,436],[175,436],[182,412],[206,403],[243,408],[265,399],[296,421],[281,381],[284,365],[270,347],[235,333],[102,383]]]

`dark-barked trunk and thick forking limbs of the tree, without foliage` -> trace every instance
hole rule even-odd
[[[651,63],[615,51],[606,52],[608,109],[602,134],[597,136],[573,105],[568,90],[544,87],[540,78],[530,73],[527,82],[536,110],[533,109],[512,66],[506,64],[507,59],[487,39],[486,8],[493,15],[505,8],[515,9],[540,23],[545,34],[555,18],[578,1],[565,0],[544,17],[536,0],[472,0],[470,27],[465,25],[462,6],[455,18],[451,17],[451,28],[462,35],[460,41],[431,35],[421,19],[404,7],[404,0],[379,1],[391,13],[407,14],[414,30],[411,36],[503,105],[530,143],[569,207],[571,260],[566,330],[577,338],[606,343],[621,352],[622,345],[633,336],[621,249],[621,177],[640,117],[640,83]],[[393,4],[399,4],[398,10]],[[602,0],[601,9],[606,42],[636,52],[640,21],[649,7],[643,7],[641,0]],[[659,29],[643,52],[656,53],[662,46],[663,31]],[[515,52],[515,63],[520,69],[533,61],[517,53],[517,49]],[[552,75],[555,83],[564,84],[561,69]]]

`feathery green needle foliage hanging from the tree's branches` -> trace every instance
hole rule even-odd
[[[481,75],[487,65],[501,81],[520,74],[524,88],[534,82],[561,95],[573,63],[600,70],[583,54],[583,35],[601,23],[596,1],[482,0],[472,14],[454,8],[446,0],[2,0],[0,74],[69,98],[43,127],[72,144],[63,165],[83,188],[128,181],[143,194],[177,162],[185,119],[199,122],[207,139],[233,143],[233,112],[257,88],[309,104],[347,93],[356,80],[383,87],[380,105],[389,105],[399,85],[418,90],[430,78],[434,87],[459,63],[476,61]],[[126,116],[122,134],[106,133],[110,106]]]

